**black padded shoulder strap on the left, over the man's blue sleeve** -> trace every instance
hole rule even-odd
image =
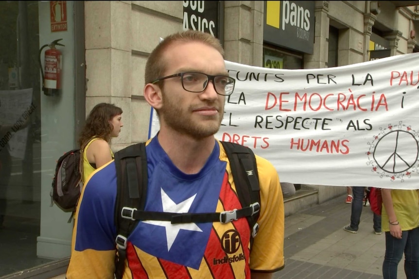
[[[117,173],[117,197],[115,204],[115,239],[118,255],[115,259],[115,277],[122,278],[126,259],[127,238],[138,224],[134,219],[122,217],[124,208],[142,210],[147,197],[147,156],[145,143],[124,148],[115,153]]]

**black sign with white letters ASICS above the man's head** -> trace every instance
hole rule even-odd
[[[218,37],[218,1],[183,1],[183,30],[188,29]]]

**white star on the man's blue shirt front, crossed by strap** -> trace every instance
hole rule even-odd
[[[164,191],[161,189],[161,203],[163,204],[163,212],[171,212],[171,213],[187,213],[191,208],[192,202],[196,197],[196,194],[192,197],[176,204]],[[175,238],[179,233],[179,230],[193,230],[193,231],[201,231],[195,223],[186,223],[186,224],[171,224],[170,221],[155,221],[155,220],[147,220],[143,221],[144,223],[161,226],[166,228],[166,238],[167,238],[167,251],[170,250],[173,243],[175,242]]]

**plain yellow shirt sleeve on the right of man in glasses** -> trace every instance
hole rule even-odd
[[[275,272],[284,267],[284,200],[275,167],[256,156],[261,188],[259,232],[250,253],[252,271]]]

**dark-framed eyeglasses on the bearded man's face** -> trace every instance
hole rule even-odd
[[[228,76],[211,76],[198,72],[183,72],[159,78],[151,83],[154,84],[162,80],[171,79],[175,77],[180,77],[183,89],[195,93],[204,91],[207,88],[208,83],[210,83],[209,81],[212,81],[212,85],[214,86],[215,92],[223,96],[228,96],[231,95],[231,93],[233,93],[234,84],[236,82],[235,79],[230,78]]]

